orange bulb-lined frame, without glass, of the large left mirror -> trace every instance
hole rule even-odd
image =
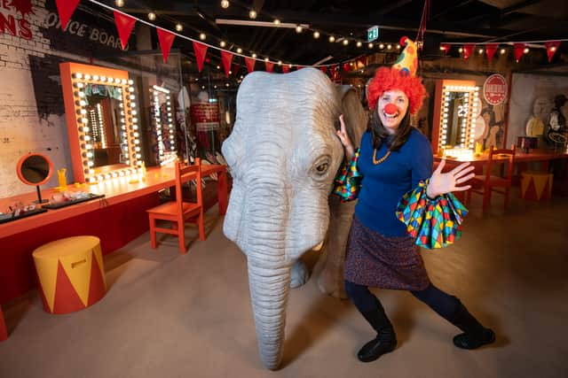
[[[133,94],[133,81],[129,80],[128,72],[78,63],[61,63],[59,71],[75,181],[95,183],[142,172],[136,97]],[[125,161],[127,167],[125,168],[102,172],[94,167],[94,150],[89,136],[91,125],[86,117],[84,100],[84,90],[88,84],[112,85],[121,90],[120,133],[125,136],[128,143],[128,158]]]

